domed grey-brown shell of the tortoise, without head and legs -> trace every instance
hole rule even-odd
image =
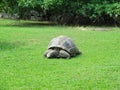
[[[48,49],[52,49],[52,48],[63,49],[67,51],[71,56],[76,56],[77,54],[80,54],[80,51],[74,44],[73,40],[66,36],[59,36],[53,38],[50,41],[50,44],[48,45]]]

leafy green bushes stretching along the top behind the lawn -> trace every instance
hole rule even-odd
[[[5,7],[10,12],[18,12],[21,16],[30,10],[36,10],[47,18],[54,16],[57,16],[57,19],[64,18],[64,14],[68,13],[74,18],[76,16],[88,18],[90,23],[94,24],[109,23],[106,22],[108,20],[110,23],[120,24],[119,0],[2,0],[0,7]],[[71,23],[73,24],[74,20]]]

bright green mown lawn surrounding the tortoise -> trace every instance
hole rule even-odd
[[[120,28],[48,24],[0,19],[0,90],[120,90]],[[45,58],[59,35],[71,37],[83,54]]]

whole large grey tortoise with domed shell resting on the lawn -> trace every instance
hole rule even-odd
[[[49,45],[48,49],[45,51],[44,56],[47,58],[66,58],[70,59],[71,57],[81,54],[73,40],[67,36],[58,36],[53,38]]]

